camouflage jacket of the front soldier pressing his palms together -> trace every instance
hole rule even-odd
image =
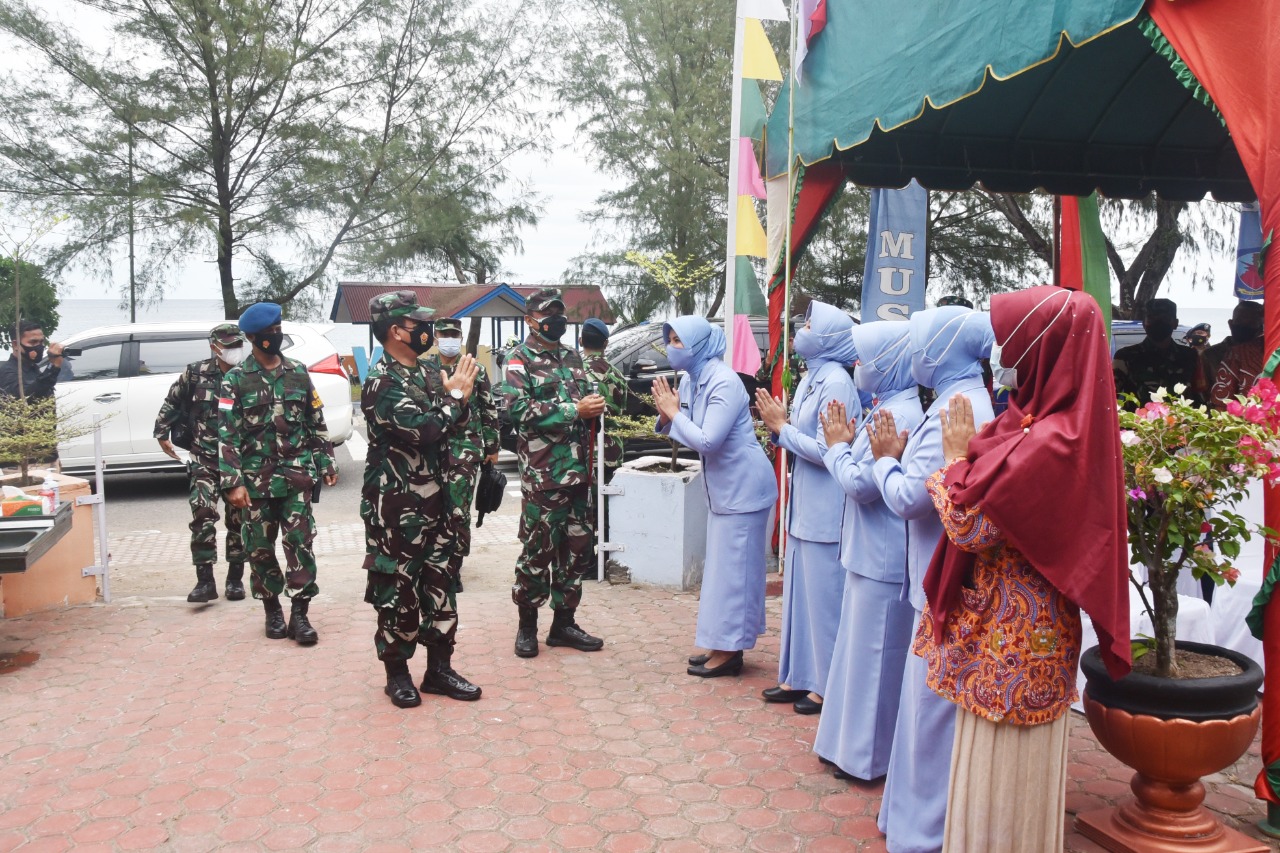
[[[375,528],[440,521],[447,442],[470,406],[431,393],[424,362],[406,368],[383,355],[369,369],[360,409],[369,429],[360,517]]]

